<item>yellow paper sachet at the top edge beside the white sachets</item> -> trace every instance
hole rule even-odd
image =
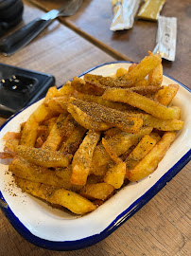
[[[156,21],[164,4],[165,0],[145,0],[145,4],[139,10],[137,17],[139,19]]]

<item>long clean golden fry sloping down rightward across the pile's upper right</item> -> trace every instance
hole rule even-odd
[[[126,89],[108,89],[102,97],[108,101],[128,103],[131,106],[140,108],[159,119],[177,119],[179,116],[176,109],[166,107],[158,102],[148,99],[145,96],[127,91]]]

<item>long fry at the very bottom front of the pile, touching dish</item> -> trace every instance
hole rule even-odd
[[[32,182],[16,177],[16,183],[24,192],[35,195],[51,204],[61,205],[77,214],[96,210],[96,205],[76,192],[57,189],[39,182]]]

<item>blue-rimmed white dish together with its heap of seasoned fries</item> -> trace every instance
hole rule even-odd
[[[159,54],[51,87],[0,131],[0,205],[29,242],[69,250],[117,229],[190,159],[190,91]]]

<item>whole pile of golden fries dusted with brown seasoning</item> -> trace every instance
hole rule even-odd
[[[1,158],[24,192],[77,214],[96,210],[127,184],[153,173],[182,129],[169,106],[179,86],[164,86],[162,59],[149,53],[114,77],[86,74],[5,135]],[[128,185],[127,185],[128,186]]]

